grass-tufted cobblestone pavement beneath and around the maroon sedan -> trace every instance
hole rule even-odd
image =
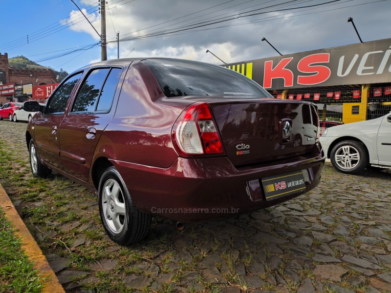
[[[0,121],[0,182],[67,292],[391,292],[391,172],[343,175],[279,206],[174,228],[154,219],[130,248],[109,240],[96,196],[33,178],[25,123]]]

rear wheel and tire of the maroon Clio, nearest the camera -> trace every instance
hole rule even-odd
[[[99,214],[109,237],[120,245],[143,240],[151,227],[152,215],[136,208],[115,167],[109,167],[99,182]]]

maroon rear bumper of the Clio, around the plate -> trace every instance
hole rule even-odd
[[[325,156],[317,144],[311,154],[240,169],[227,157],[178,157],[167,169],[112,162],[140,210],[192,222],[248,213],[302,195],[320,182]],[[267,201],[260,179],[296,171],[303,172],[305,190]]]

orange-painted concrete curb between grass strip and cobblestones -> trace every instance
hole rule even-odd
[[[26,225],[19,216],[14,204],[8,197],[4,188],[0,184],[0,207],[5,216],[15,226],[16,234],[20,237],[22,249],[28,260],[34,263],[34,269],[39,270],[42,277],[47,278],[43,284],[41,292],[43,293],[65,293],[58,278],[50,267],[46,257],[43,255],[41,248],[38,246],[34,237],[28,231]]]

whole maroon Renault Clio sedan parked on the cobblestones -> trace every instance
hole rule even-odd
[[[55,170],[96,191],[123,245],[147,235],[152,214],[208,220],[302,195],[325,162],[314,104],[207,63],[104,61],[70,74],[45,107],[24,108],[40,110],[26,132],[33,175]]]

